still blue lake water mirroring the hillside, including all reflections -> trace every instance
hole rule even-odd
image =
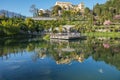
[[[120,39],[0,40],[0,80],[120,80]]]

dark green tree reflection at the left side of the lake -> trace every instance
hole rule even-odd
[[[33,51],[35,43],[37,41],[28,38],[0,40],[0,56],[8,59],[11,54],[22,55],[25,51]]]

